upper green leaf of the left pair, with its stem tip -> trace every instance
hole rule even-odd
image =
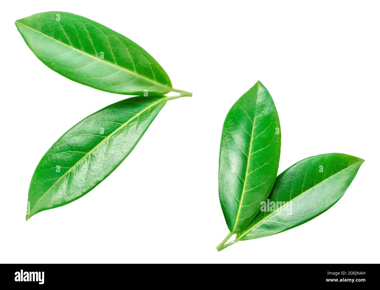
[[[44,12],[17,20],[16,26],[46,66],[75,82],[118,94],[184,93],[173,89],[160,64],[139,45],[85,17]]]

